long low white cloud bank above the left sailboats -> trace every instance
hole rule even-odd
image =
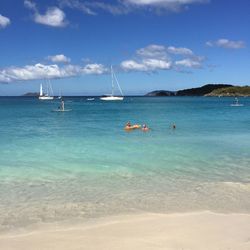
[[[84,67],[79,65],[66,65],[63,67],[57,64],[26,65],[24,67],[8,67],[0,70],[0,82],[10,83],[14,81],[38,80],[44,78],[67,78],[86,74],[104,74],[107,69],[102,64],[87,64]]]

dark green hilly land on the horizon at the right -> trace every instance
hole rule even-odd
[[[155,90],[147,93],[146,96],[250,96],[250,86],[206,84],[202,87],[178,91]]]

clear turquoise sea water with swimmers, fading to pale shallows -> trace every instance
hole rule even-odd
[[[0,230],[137,212],[250,212],[250,99],[0,98]],[[125,132],[127,121],[152,130]],[[175,122],[176,130],[170,125]]]

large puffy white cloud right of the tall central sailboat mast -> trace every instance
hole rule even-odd
[[[204,58],[196,56],[191,49],[152,44],[138,49],[135,58],[122,61],[120,67],[124,71],[181,71],[183,67],[201,68],[203,61]]]

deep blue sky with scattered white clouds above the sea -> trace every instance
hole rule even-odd
[[[250,85],[248,0],[1,0],[0,96]]]

